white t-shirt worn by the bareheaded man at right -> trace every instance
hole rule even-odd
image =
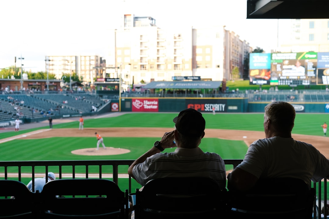
[[[257,178],[292,177],[319,182],[329,175],[329,160],[313,145],[293,138],[272,137],[253,142],[237,167]]]

